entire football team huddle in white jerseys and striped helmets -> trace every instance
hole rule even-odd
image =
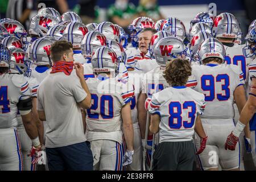
[[[65,133],[90,143],[94,170],[239,170],[245,153],[256,166],[256,20],[245,44],[230,13],[199,13],[189,31],[175,17],[128,28],[53,8],[28,33],[0,20],[0,170],[53,169],[47,150],[74,143]],[[54,123],[73,113],[79,127]]]

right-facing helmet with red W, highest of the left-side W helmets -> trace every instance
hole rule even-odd
[[[35,15],[30,20],[30,28],[28,31],[31,35],[36,35],[39,36],[39,38],[42,38],[43,36],[46,36],[51,27],[57,24],[59,24],[59,20],[55,16],[49,14]]]

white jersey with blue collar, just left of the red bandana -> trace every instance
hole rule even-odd
[[[31,78],[36,78],[39,84],[46,78],[51,72],[51,68],[46,66],[37,66],[35,68],[31,68]]]

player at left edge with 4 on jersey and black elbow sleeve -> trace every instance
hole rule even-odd
[[[10,52],[0,44],[0,169],[2,171],[21,171],[22,154],[17,133],[18,111],[24,128],[32,140],[32,152],[38,153],[41,145],[36,124],[32,122],[31,89],[23,75],[9,74]],[[32,154],[33,155],[33,154]]]

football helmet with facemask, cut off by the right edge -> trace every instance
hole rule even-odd
[[[256,56],[256,27],[251,29],[246,35],[245,40],[246,46],[243,47],[243,55],[254,59]]]

